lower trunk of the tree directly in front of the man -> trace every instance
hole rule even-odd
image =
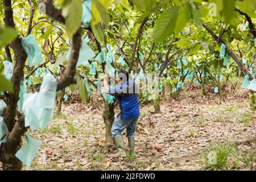
[[[105,110],[102,114],[102,118],[105,123],[106,143],[113,143],[111,128],[114,122],[114,104],[108,104],[108,102],[105,101]]]

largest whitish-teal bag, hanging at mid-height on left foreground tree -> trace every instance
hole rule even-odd
[[[56,89],[57,80],[48,73],[43,78],[39,93],[24,94],[22,111],[25,115],[25,127],[30,126],[33,131],[43,130],[48,125],[54,114]]]

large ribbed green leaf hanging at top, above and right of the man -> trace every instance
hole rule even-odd
[[[179,6],[171,7],[159,16],[159,19],[156,21],[154,32],[154,39],[156,43],[163,42],[174,32],[179,9]]]

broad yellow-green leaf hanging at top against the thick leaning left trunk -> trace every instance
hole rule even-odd
[[[61,14],[65,18],[66,30],[69,39],[79,30],[82,19],[82,1],[80,0],[65,0]]]

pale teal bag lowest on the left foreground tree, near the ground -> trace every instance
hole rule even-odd
[[[25,134],[27,143],[25,143],[19,150],[16,152],[15,156],[18,158],[23,164],[30,168],[32,160],[36,156],[36,152],[41,145],[41,141],[35,138],[28,136]]]

